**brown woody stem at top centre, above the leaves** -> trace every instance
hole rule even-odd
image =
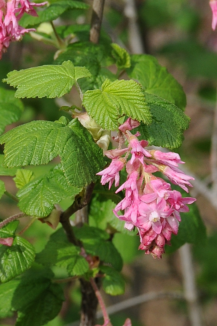
[[[94,0],[90,28],[90,41],[97,44],[100,37],[100,29],[105,0]]]

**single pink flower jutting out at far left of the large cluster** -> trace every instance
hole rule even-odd
[[[105,185],[107,182],[109,182],[108,189],[110,189],[111,185],[113,184],[113,181],[115,180],[115,186],[117,187],[120,181],[119,171],[123,169],[124,164],[125,164],[124,158],[112,160],[108,168],[96,173],[97,175],[102,176],[101,184]]]

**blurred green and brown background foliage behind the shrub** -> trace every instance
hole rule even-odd
[[[90,5],[92,1],[87,1]],[[125,47],[129,52],[130,40],[128,18],[124,14],[125,1],[108,0],[104,10],[102,34],[106,33],[112,41]],[[211,30],[211,9],[209,1],[202,0],[137,0],[137,23],[145,53],[157,57],[173,76],[181,83],[187,95],[186,114],[191,117],[189,130],[178,152],[186,165],[206,184],[210,185],[210,144],[214,110],[216,107],[217,87],[217,31]],[[65,25],[80,24],[73,33],[78,39],[88,39],[88,28],[91,10],[68,10],[58,18]],[[82,25],[84,27],[82,28]],[[57,28],[58,29],[58,28]],[[61,28],[59,29],[61,32]],[[26,35],[22,42],[12,43],[8,52],[0,61],[0,80],[13,69],[23,69],[53,63],[56,49],[50,45],[33,40]],[[111,71],[113,67],[111,66]],[[5,83],[1,87],[9,88]],[[63,101],[70,103],[70,98],[78,102],[79,98],[72,90]],[[20,123],[33,119],[57,120],[63,111],[64,103],[54,99],[23,99],[25,110]],[[64,113],[69,119],[70,115]],[[9,128],[16,126],[9,126]],[[58,162],[48,166],[31,167],[35,175],[41,175]],[[27,167],[28,168],[28,167]],[[7,190],[15,193],[16,188],[10,177]],[[204,325],[214,326],[217,323],[217,212],[197,190],[191,195],[197,197],[199,212],[206,227],[207,241],[201,241],[200,235],[193,247],[196,281]],[[66,209],[72,201],[63,200],[60,206]],[[2,219],[16,214],[17,207],[12,200],[3,196],[0,216]],[[190,216],[186,216],[190,218]],[[21,220],[22,229],[28,218]],[[96,223],[90,218],[90,222]],[[99,226],[100,227],[100,226]],[[103,228],[103,227],[102,227]],[[53,230],[46,224],[36,221],[24,236],[35,245],[36,252],[45,246]],[[189,242],[191,243],[191,235]],[[126,293],[109,298],[105,295],[107,305],[122,301],[125,298],[154,290],[182,289],[182,276],[179,253],[168,249],[162,261],[153,260],[138,251],[139,239],[136,236],[117,233],[114,244],[120,250],[124,261],[123,274],[127,280]],[[169,254],[170,252],[170,254]],[[76,325],[72,321],[79,319],[81,294],[77,282],[69,284],[65,293],[66,301],[58,317],[47,326]],[[111,316],[114,325],[123,325],[126,317],[132,318],[133,325],[144,326],[187,326],[189,324],[187,307],[184,302],[161,299],[132,307],[123,313]],[[15,319],[4,319],[0,325],[12,325]]]

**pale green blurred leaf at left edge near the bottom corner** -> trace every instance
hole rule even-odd
[[[0,318],[12,317],[11,301],[19,283],[17,280],[11,280],[0,284]]]

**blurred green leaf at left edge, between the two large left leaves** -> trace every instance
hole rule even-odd
[[[23,104],[21,100],[14,97],[15,92],[0,87],[0,134],[5,127],[20,119]]]

